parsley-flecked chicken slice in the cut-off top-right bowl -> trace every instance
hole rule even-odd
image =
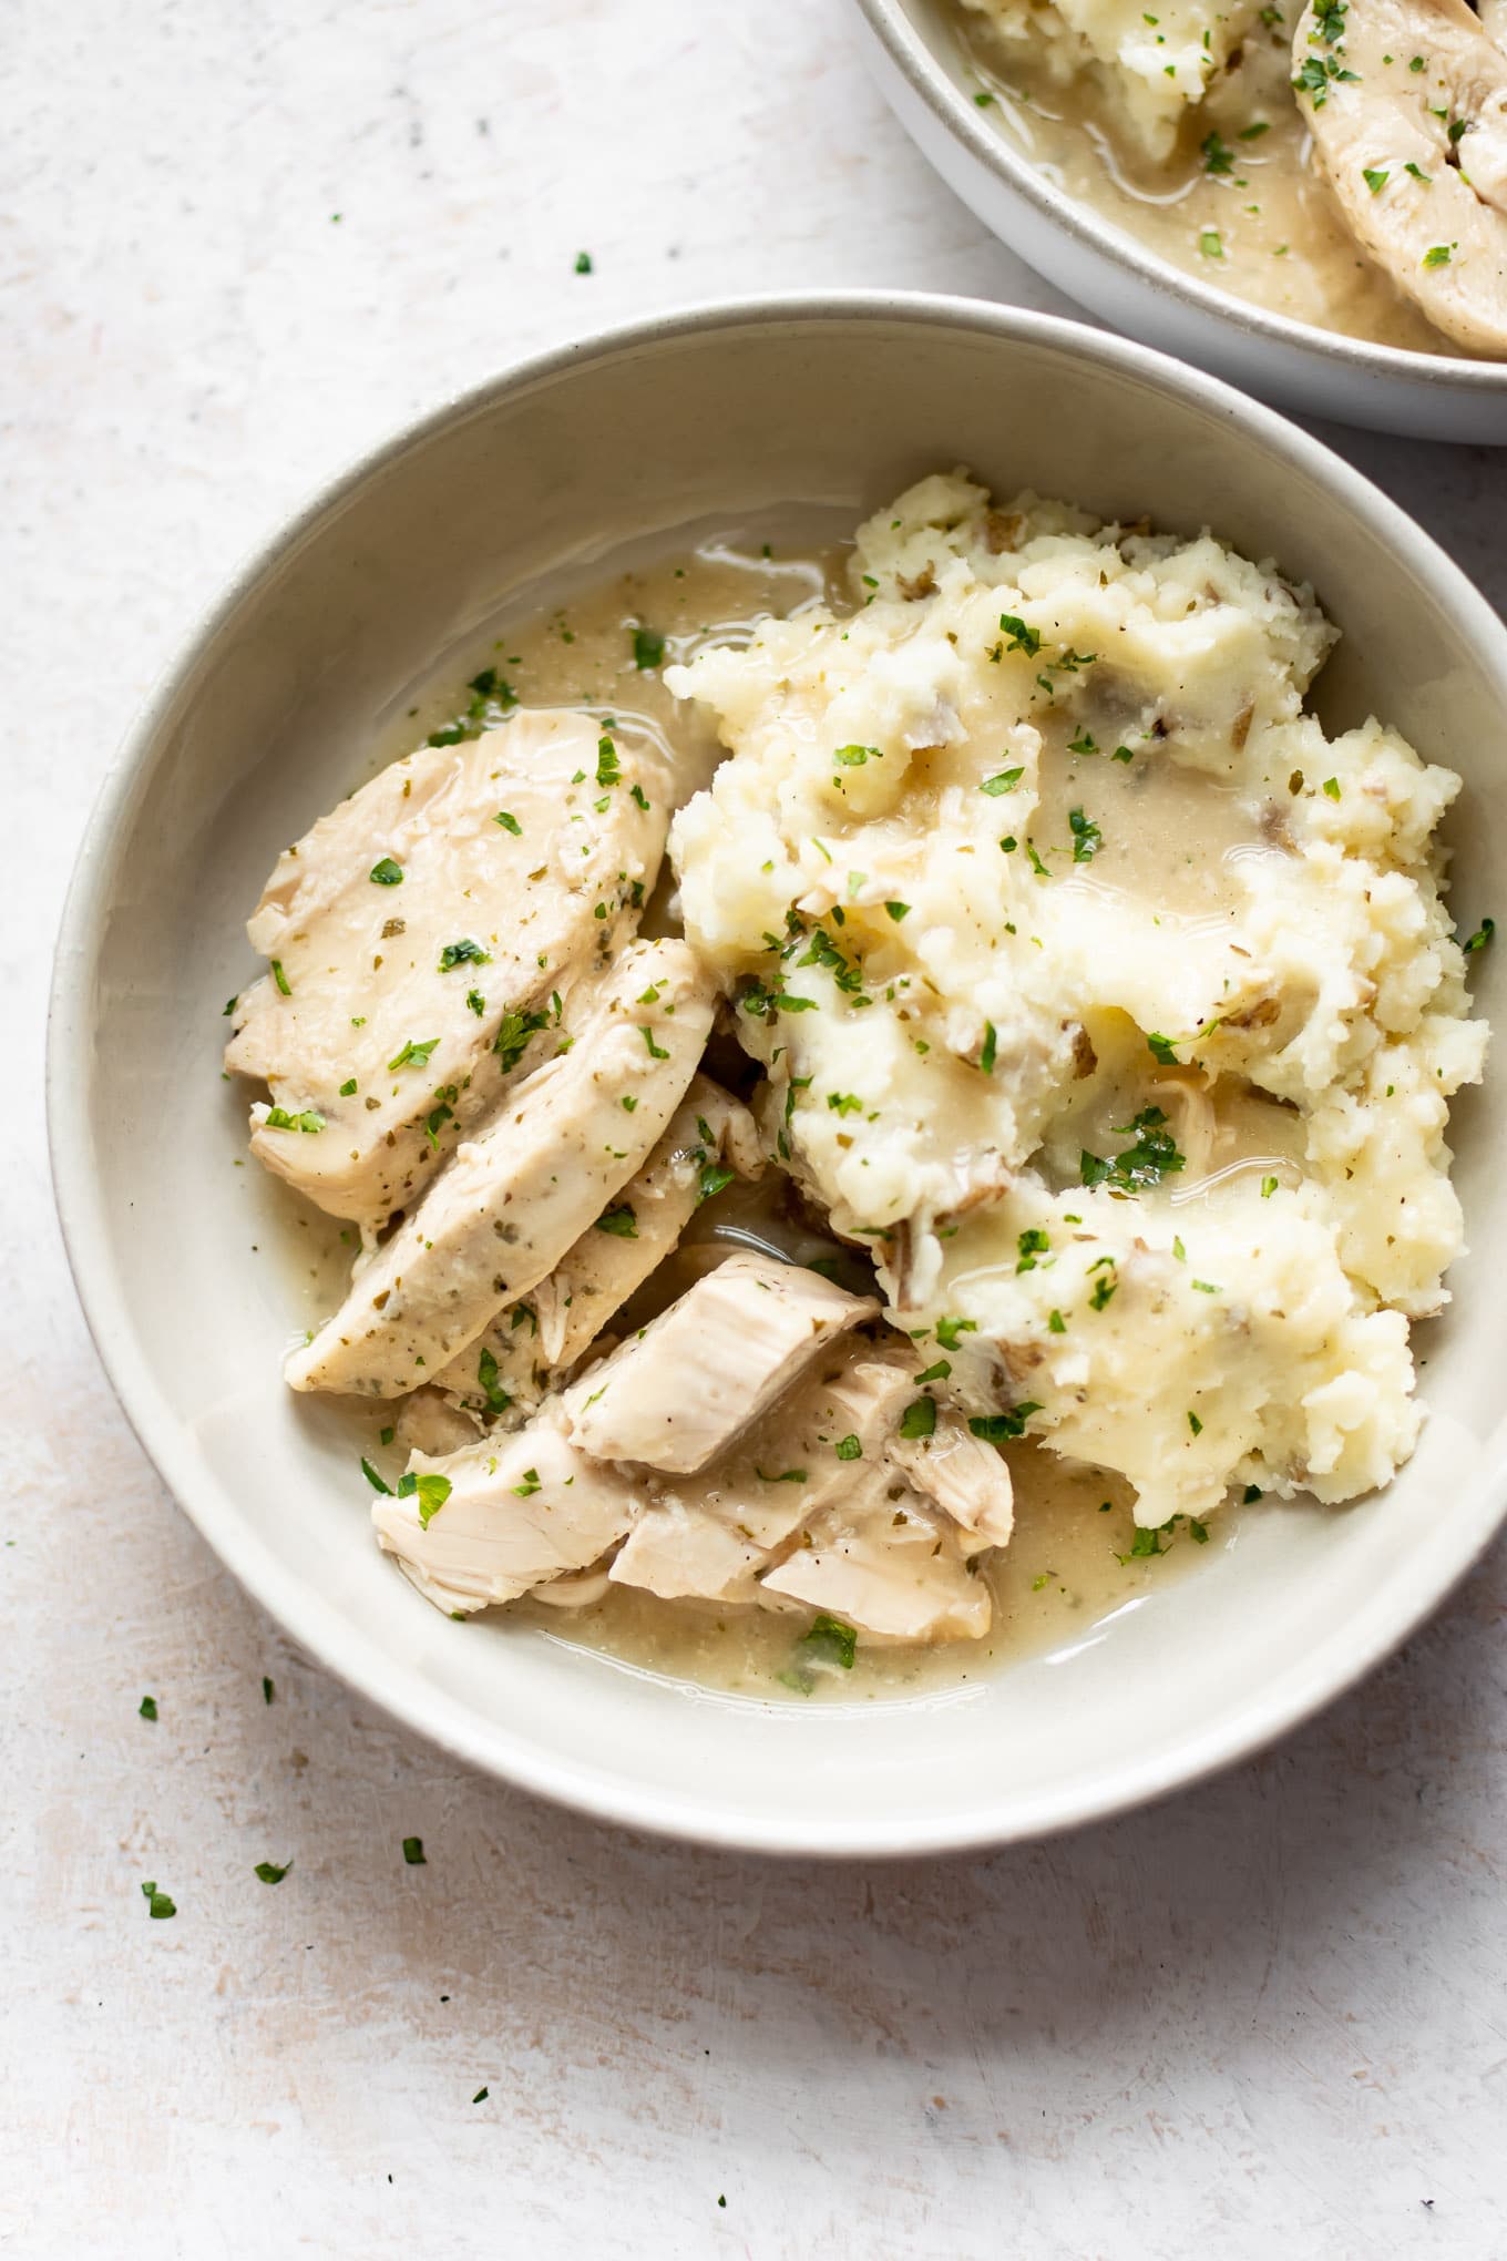
[[[1299,104],[1360,244],[1473,353],[1507,353],[1507,54],[1466,0],[1308,0]]]

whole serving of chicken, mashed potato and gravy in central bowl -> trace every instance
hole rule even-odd
[[[1457,780],[1324,737],[1331,644],[938,477],[513,629],[289,850],[228,1065],[359,1244],[287,1377],[427,1599],[915,1691],[1390,1479],[1484,1029]]]

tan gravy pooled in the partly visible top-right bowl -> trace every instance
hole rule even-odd
[[[978,93],[990,95],[981,109],[1055,188],[1173,267],[1272,314],[1376,346],[1460,353],[1344,226],[1292,97],[1297,16],[1286,9],[1281,25],[1254,34],[1184,127],[1177,154],[1152,165],[1116,136],[1112,102],[1087,75],[1051,79],[953,7]],[[1211,131],[1220,170],[1202,149]]]

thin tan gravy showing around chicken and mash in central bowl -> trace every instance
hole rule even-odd
[[[764,540],[709,540],[680,558],[619,574],[612,581],[574,597],[565,606],[542,608],[504,629],[488,647],[470,653],[465,683],[481,669],[495,669],[517,705],[590,708],[610,717],[619,730],[646,730],[671,755],[678,798],[689,798],[707,782],[718,746],[696,717],[678,708],[662,687],[660,669],[635,665],[635,633],[664,638],[664,662],[685,660],[705,642],[746,642],[759,617],[795,613],[804,604],[825,601],[850,610],[845,583],[845,549],[816,545],[770,545]],[[456,672],[393,719],[373,757],[373,771],[409,751],[429,730],[465,705]],[[389,742],[391,739],[391,742]],[[1225,920],[1234,909],[1227,877],[1227,850],[1249,843],[1249,825],[1240,823],[1231,796],[1200,778],[1173,778],[1146,769],[1130,776],[1118,764],[1084,760],[1053,748],[1048,755],[1039,828],[1055,837],[1064,812],[1084,800],[1091,778],[1096,814],[1105,814],[1105,837],[1114,848],[1096,861],[1094,884],[1152,886],[1168,916]],[[1080,776],[1082,771],[1082,776]],[[1170,825],[1177,803],[1177,825]],[[1168,839],[1177,839],[1168,861]],[[673,929],[669,880],[651,900],[646,932]],[[1116,1106],[1109,1108],[1116,1115]],[[1258,1115],[1272,1115],[1261,1108]],[[1118,1119],[1118,1117],[1116,1117]],[[1270,1137],[1263,1124],[1222,1121],[1220,1162],[1256,1155],[1268,1160]],[[1247,1167],[1258,1167],[1249,1162]],[[350,1266],[352,1241],[341,1241],[334,1219],[310,1210],[287,1187],[269,1185],[278,1212],[287,1219],[282,1246],[296,1284],[298,1329],[316,1325],[339,1302]],[[1182,1198],[1195,1196],[1191,1180]],[[840,1248],[809,1216],[795,1214],[786,1180],[768,1173],[759,1187],[734,1183],[696,1212],[680,1248],[660,1266],[624,1311],[626,1325],[642,1325],[682,1293],[707,1268],[714,1250],[728,1244],[761,1246],[809,1262],[831,1257],[845,1287],[865,1291],[872,1273],[863,1257]],[[364,1454],[389,1483],[404,1463],[400,1447],[380,1445],[382,1415],[350,1413],[352,1474]],[[1168,1578],[1182,1576],[1193,1562],[1234,1544],[1238,1517],[1225,1515],[1207,1542],[1186,1533],[1159,1537],[1161,1553],[1132,1556],[1136,1528],[1130,1495],[1123,1483],[1103,1472],[1060,1461],[1033,1443],[1008,1447],[1014,1476],[1017,1528],[1003,1553],[983,1565],[994,1596],[994,1626],[983,1641],[944,1641],[915,1646],[863,1646],[852,1671],[827,1669],[813,1675],[809,1693],[791,1689],[777,1675],[791,1664],[807,1614],[766,1610],[728,1610],[716,1603],[667,1603],[633,1587],[612,1587],[601,1603],[583,1610],[551,1608],[533,1596],[513,1603],[508,1617],[540,1628],[554,1639],[583,1644],[637,1671],[694,1680],[707,1689],[737,1696],[761,1696],[784,1703],[874,1700],[895,1696],[935,1696],[960,1691],[1005,1662],[1057,1651],[1089,1639],[1105,1617],[1134,1608]],[[359,1481],[359,1479],[357,1479]],[[1146,1537],[1141,1540],[1146,1544]]]

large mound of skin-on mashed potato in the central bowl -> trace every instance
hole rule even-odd
[[[1306,588],[965,475],[859,531],[859,610],[667,681],[676,818],[766,1135],[994,1433],[1139,1519],[1338,1501],[1412,1452],[1478,1081],[1432,832],[1460,780],[1304,714]]]

